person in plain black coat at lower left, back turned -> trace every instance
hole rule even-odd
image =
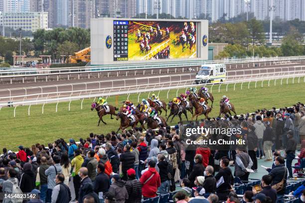
[[[35,188],[36,176],[32,171],[32,165],[25,163],[23,165],[23,173],[20,178],[19,187],[22,193],[30,193]]]

